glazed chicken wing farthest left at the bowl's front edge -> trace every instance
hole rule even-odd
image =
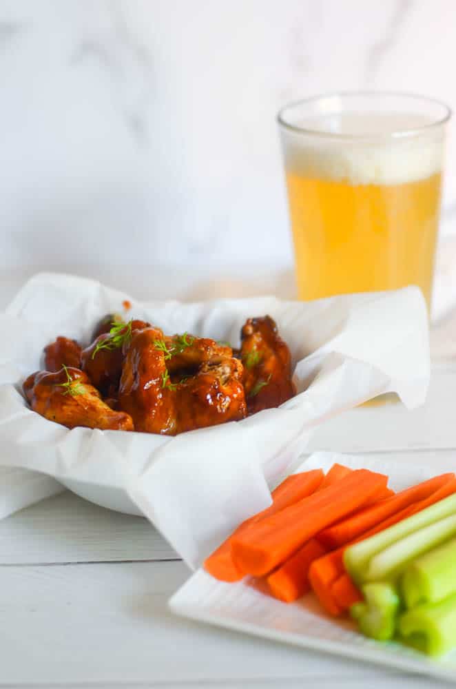
[[[61,371],[32,373],[23,384],[25,397],[34,411],[69,429],[133,431],[133,421],[124,411],[113,411],[101,400],[83,371],[63,367]]]

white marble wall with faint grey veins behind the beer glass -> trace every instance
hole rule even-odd
[[[287,269],[278,107],[456,105],[455,25],[455,0],[1,0],[0,270]],[[444,205],[446,236],[456,143]]]

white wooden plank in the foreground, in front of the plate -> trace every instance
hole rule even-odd
[[[0,686],[335,687],[376,677],[384,686],[401,677],[174,617],[166,601],[188,574],[182,562],[0,566]]]

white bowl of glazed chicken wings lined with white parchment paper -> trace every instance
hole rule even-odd
[[[428,380],[412,288],[139,302],[39,274],[0,329],[1,463],[147,516],[194,564],[267,506],[318,424],[390,391],[413,406]]]

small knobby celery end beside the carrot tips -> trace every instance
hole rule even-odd
[[[364,602],[355,603],[350,614],[366,637],[388,641],[395,635],[400,598],[395,587],[388,582],[375,582],[362,586]]]

